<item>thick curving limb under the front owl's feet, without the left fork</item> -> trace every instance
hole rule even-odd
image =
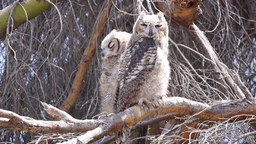
[[[230,118],[235,116],[236,114],[234,115],[234,113],[237,113],[238,109],[244,110],[245,107],[251,106],[253,107],[252,109],[250,108],[252,111],[256,110],[255,105],[251,105],[247,102],[244,103],[242,101],[233,101],[231,103],[229,103],[230,101],[223,101],[218,105],[209,106],[204,103],[195,102],[184,98],[172,97],[164,100],[159,100],[158,102],[161,105],[159,108],[145,108],[140,110],[140,107],[135,105],[129,109],[126,109],[122,113],[119,113],[109,119],[106,119],[106,121],[96,129],[89,131],[84,135],[81,135],[81,137],[79,138],[71,140],[71,142],[68,141],[65,143],[88,143],[94,139],[99,139],[111,132],[120,131],[122,129],[121,127],[124,124],[127,126],[131,126],[148,116],[174,113],[174,111],[177,113],[178,116],[193,115],[193,117],[195,118],[209,121],[224,121],[223,118]],[[229,104],[227,104],[227,102]],[[226,110],[228,110],[228,112]],[[248,111],[244,112],[247,113]],[[246,116],[241,118],[246,118]],[[241,118],[237,118],[236,121],[238,121]]]

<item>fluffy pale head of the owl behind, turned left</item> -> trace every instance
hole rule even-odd
[[[110,57],[121,55],[130,38],[131,34],[129,33],[112,30],[101,43],[101,59],[106,60]]]

